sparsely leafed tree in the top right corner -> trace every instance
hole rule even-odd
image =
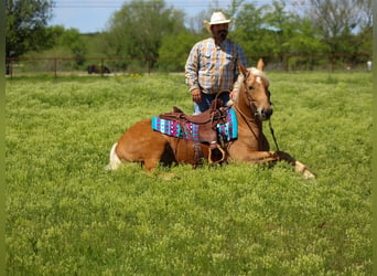
[[[336,60],[352,65],[362,62],[355,54],[371,53],[371,0],[310,0],[299,8],[302,20],[315,28],[324,54],[348,54]]]

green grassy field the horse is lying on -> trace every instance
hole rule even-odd
[[[183,75],[7,79],[7,273],[371,275],[371,74],[268,76],[279,146],[315,180],[286,163],[106,171],[133,123],[192,110]]]

